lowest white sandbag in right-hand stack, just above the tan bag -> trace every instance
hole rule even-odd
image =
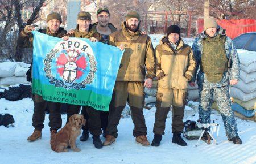
[[[249,100],[252,100],[253,98],[256,98],[256,92],[245,93],[245,92],[242,92],[242,90],[231,86],[230,97],[238,98],[239,100],[242,100],[242,101],[249,101]]]

